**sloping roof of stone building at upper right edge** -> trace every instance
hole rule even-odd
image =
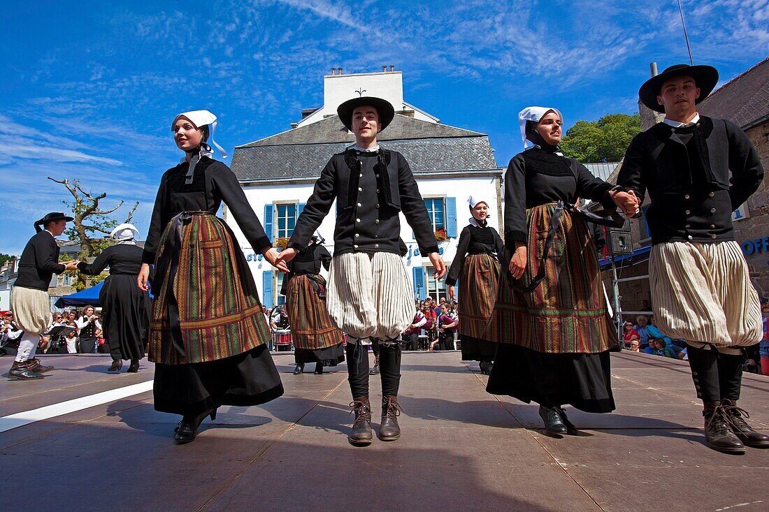
[[[729,119],[743,129],[769,118],[769,58],[714,91],[697,105],[697,111]]]

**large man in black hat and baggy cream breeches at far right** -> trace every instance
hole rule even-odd
[[[717,81],[711,66],[674,65],[641,85],[641,101],[665,118],[631,141],[618,185],[641,201],[649,192],[654,318],[664,334],[686,340],[707,445],[739,454],[745,445],[769,447],[737,407],[741,347],[758,343],[762,326],[731,220],[764,169],[737,125],[697,114]]]

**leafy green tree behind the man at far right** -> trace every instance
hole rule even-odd
[[[607,114],[598,121],[577,121],[566,131],[561,149],[584,164],[620,161],[639,132],[640,115]]]

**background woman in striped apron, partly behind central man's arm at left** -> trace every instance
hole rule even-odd
[[[305,370],[305,363],[315,363],[315,374],[320,375],[324,366],[345,361],[345,336],[331,323],[326,309],[326,280],[321,276],[321,265],[328,270],[331,254],[323,241],[315,234],[310,244],[288,262],[288,274],[283,278],[281,294],[288,306],[295,375]]]

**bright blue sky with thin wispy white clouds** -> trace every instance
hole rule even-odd
[[[769,54],[769,0],[683,5],[694,61],[722,83]],[[68,198],[47,176],[81,178],[105,206],[140,201],[144,235],[160,175],[181,156],[176,113],[214,111],[231,151],[321,106],[332,67],[395,65],[406,101],[487,133],[506,165],[521,108],[558,107],[567,125],[633,113],[649,62],[687,61],[675,0],[66,0],[3,14],[0,252],[11,254]]]

